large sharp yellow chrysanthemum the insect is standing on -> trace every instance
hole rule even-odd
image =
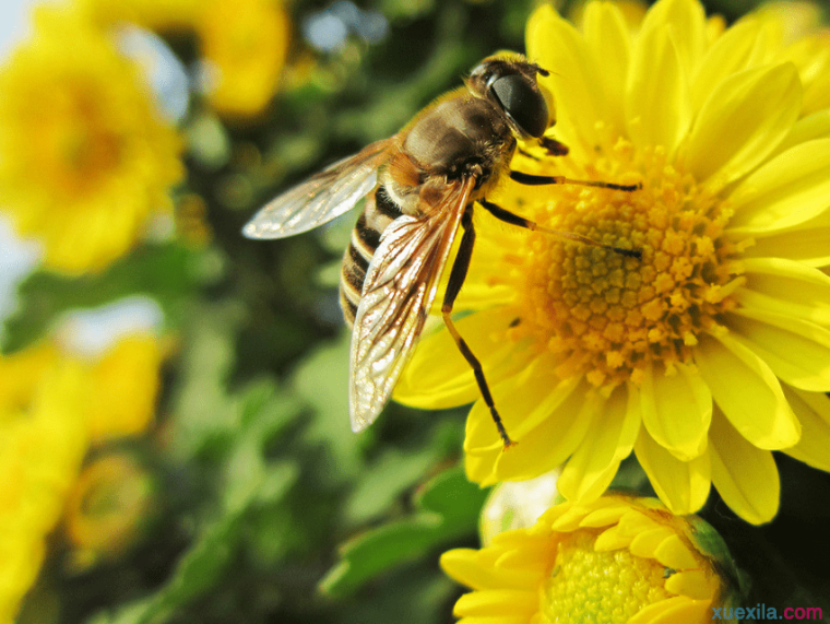
[[[661,0],[638,30],[592,2],[574,28],[549,7],[527,27],[550,70],[561,157],[513,168],[633,192],[506,183],[496,203],[642,258],[477,215],[459,298],[510,436],[478,401],[469,476],[522,480],[567,461],[559,491],[600,496],[632,450],[661,499],[696,511],[710,485],[750,522],[779,501],[771,450],[830,470],[830,46],[749,15],[728,30],[695,0]],[[484,211],[479,211],[484,212]],[[475,400],[446,331],[425,339],[396,398]]]

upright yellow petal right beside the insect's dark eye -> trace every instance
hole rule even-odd
[[[601,66],[582,34],[557,15],[548,4],[540,7],[527,22],[527,56],[549,70],[540,82],[556,102],[556,136],[573,155],[586,156],[600,143],[594,120],[606,119],[607,105]]]

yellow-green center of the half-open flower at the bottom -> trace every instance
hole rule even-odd
[[[622,623],[643,607],[671,597],[663,587],[664,566],[626,549],[594,551],[597,532],[580,530],[559,542],[540,591],[547,621]]]

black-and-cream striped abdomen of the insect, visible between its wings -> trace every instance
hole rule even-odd
[[[401,209],[389,198],[383,187],[378,187],[366,199],[366,209],[352,231],[340,273],[340,307],[349,329],[355,322],[366,271],[380,245],[380,235],[401,214]]]

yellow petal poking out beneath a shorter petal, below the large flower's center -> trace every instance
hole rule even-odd
[[[709,496],[709,455],[680,461],[655,443],[644,427],[635,445],[637,460],[654,492],[673,514],[693,514]]]

